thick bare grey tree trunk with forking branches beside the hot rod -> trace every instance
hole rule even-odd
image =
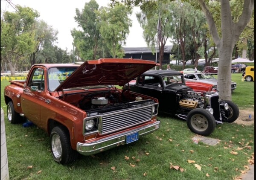
[[[244,0],[243,11],[237,22],[234,22],[229,0],[221,0],[221,37],[218,33],[212,13],[204,0],[198,0],[209,25],[209,31],[218,48],[218,92],[220,99],[231,100],[231,61],[232,52],[244,27],[249,22],[254,9],[254,0]]]

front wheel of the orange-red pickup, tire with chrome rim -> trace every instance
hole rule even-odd
[[[78,157],[78,152],[70,145],[70,136],[64,126],[56,126],[50,135],[51,152],[53,159],[60,164],[74,162]]]

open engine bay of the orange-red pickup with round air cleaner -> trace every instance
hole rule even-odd
[[[64,101],[86,111],[87,116],[155,103],[153,99],[138,96],[127,89],[70,93]]]

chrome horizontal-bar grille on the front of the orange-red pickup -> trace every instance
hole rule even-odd
[[[128,110],[102,114],[100,117],[102,126],[99,131],[101,134],[108,134],[148,122],[151,120],[152,106],[134,107]]]

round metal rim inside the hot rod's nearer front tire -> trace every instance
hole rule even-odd
[[[208,128],[208,120],[205,116],[195,114],[191,119],[191,125],[197,131],[205,131]]]

